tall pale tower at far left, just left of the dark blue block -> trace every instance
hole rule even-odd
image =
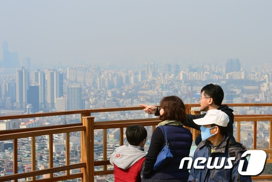
[[[27,103],[27,89],[29,87],[29,72],[24,67],[16,71],[16,106],[24,109]]]

